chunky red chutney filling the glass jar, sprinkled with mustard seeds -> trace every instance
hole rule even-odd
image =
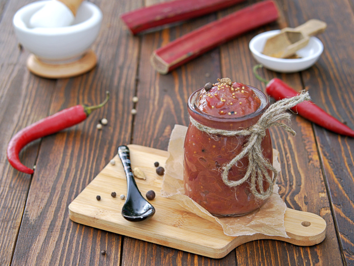
[[[209,85],[194,92],[188,101],[189,115],[204,126],[223,130],[247,129],[257,123],[269,107],[268,97],[251,86],[236,82]],[[268,130],[265,133],[261,142],[262,153],[265,159],[273,162],[271,137]],[[185,194],[213,215],[246,214],[265,202],[255,199],[249,182],[229,187],[222,180],[222,166],[242,151],[247,140],[248,136],[210,136],[192,124],[188,127],[184,144]],[[241,179],[247,167],[246,156],[230,169],[229,180]],[[268,187],[263,180],[264,190]]]

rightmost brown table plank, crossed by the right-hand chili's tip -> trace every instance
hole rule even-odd
[[[352,3],[351,3],[352,4]],[[321,6],[318,6],[321,5]],[[354,34],[354,15],[349,1],[299,1],[296,12],[301,23],[316,18],[328,24],[325,33],[319,36],[325,50],[315,67],[302,73],[303,84],[308,88],[313,101],[339,121],[354,129],[354,60],[351,49]],[[340,14],[338,16],[338,14]],[[346,264],[354,264],[354,139],[338,136],[314,125],[321,165],[330,195],[331,209],[340,237],[342,256]],[[328,210],[329,212],[330,210]]]

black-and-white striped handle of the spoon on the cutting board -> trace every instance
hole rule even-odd
[[[122,161],[124,167],[126,183],[127,183],[126,200],[128,201],[130,197],[137,197],[137,194],[141,195],[141,193],[139,191],[137,183],[135,182],[134,174],[132,173],[131,170],[129,148],[125,145],[119,146],[118,156]]]

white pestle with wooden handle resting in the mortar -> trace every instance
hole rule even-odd
[[[77,9],[83,0],[50,0],[32,15],[29,20],[31,28],[66,27],[73,23]]]

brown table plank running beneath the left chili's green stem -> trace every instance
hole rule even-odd
[[[124,29],[117,14],[139,7],[131,1],[94,1],[104,16],[92,49],[98,66],[73,79],[52,85],[50,114],[80,103],[109,103],[77,126],[43,138],[28,193],[14,265],[116,265],[120,263],[121,237],[79,225],[69,219],[68,205],[109,162],[116,147],[130,141],[131,98],[139,40]],[[109,121],[101,131],[100,119]],[[105,255],[101,250],[107,250]]]

